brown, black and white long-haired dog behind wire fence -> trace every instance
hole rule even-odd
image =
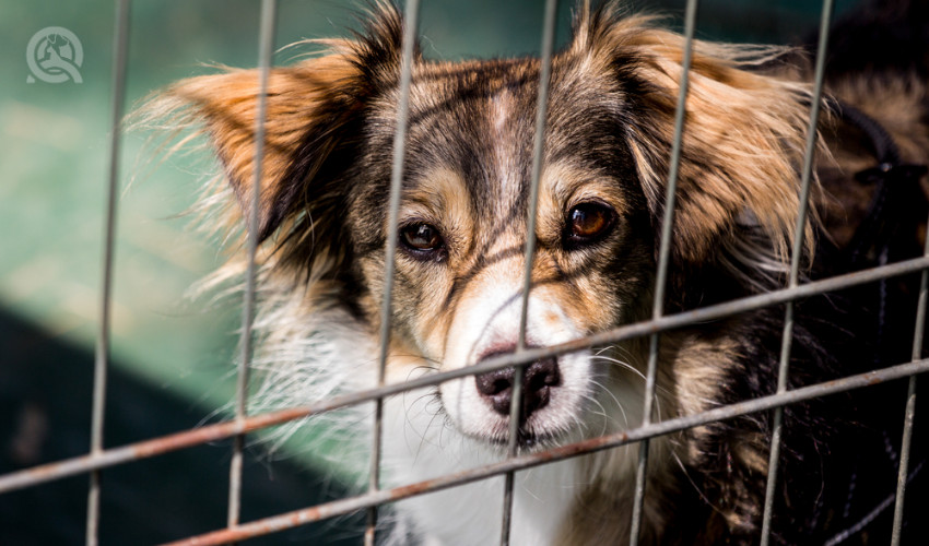
[[[918,2],[897,3],[894,21],[903,24],[926,12]],[[651,317],[685,47],[659,22],[580,2],[573,36],[553,58],[529,347]],[[903,69],[879,56],[856,69],[836,40],[857,44],[855,36],[875,28],[861,15],[836,26],[830,66],[845,68],[827,74],[810,219],[799,229],[816,99],[812,55],[694,41],[667,313],[783,288],[797,239],[807,278],[921,253],[929,63],[919,58],[925,47],[909,47],[897,54],[912,59],[894,55]],[[322,55],[271,70],[257,211],[256,70],[181,81],[143,110],[144,119],[205,134],[221,164],[207,199],[219,209],[210,223],[242,230],[257,214],[254,365],[264,379],[256,411],[376,384],[402,31],[399,10],[376,4],[356,37],[324,40]],[[517,349],[539,79],[534,58],[414,55],[388,383]],[[898,147],[906,183],[854,177],[880,157],[849,112],[874,121]],[[874,212],[879,193],[897,209]],[[236,254],[213,284],[244,270]],[[908,361],[915,292],[904,277],[799,302],[789,387]],[[775,392],[783,321],[775,307],[662,332],[651,419]],[[648,340],[635,339],[529,363],[519,452],[639,426],[648,353]],[[514,373],[466,376],[386,399],[385,485],[503,460]],[[904,392],[886,390],[881,407],[872,390],[785,408],[775,543],[882,544],[890,536],[885,500],[895,487]],[[364,450],[371,413],[362,406],[331,426]],[[642,543],[756,542],[772,428],[771,415],[760,413],[651,439]],[[920,442],[910,513],[927,499]],[[626,544],[637,455],[638,444],[630,444],[518,472],[514,544]],[[401,501],[387,533],[399,544],[492,544],[501,535],[502,484],[496,477]],[[920,536],[920,529],[919,518],[907,519],[906,533]]]

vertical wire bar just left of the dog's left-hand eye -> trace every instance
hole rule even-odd
[[[413,79],[413,50],[416,44],[416,26],[420,12],[419,0],[408,0],[403,23],[403,51],[400,60],[400,104],[397,107],[397,127],[393,133],[393,164],[390,173],[390,201],[387,213],[387,241],[384,254],[384,300],[380,305],[380,356],[377,369],[377,387],[383,387],[390,351],[390,319],[393,299],[393,276],[397,254],[397,217],[400,213],[400,193],[403,185],[403,155],[407,151],[407,126],[410,111],[410,86]],[[371,472],[368,492],[380,488],[380,451],[384,419],[384,399],[375,402],[374,430],[372,437]],[[367,511],[365,546],[374,546],[377,530],[377,507]]]

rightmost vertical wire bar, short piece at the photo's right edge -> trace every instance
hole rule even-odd
[[[929,256],[929,236],[926,237],[922,256]],[[919,280],[919,300],[916,306],[916,324],[913,332],[912,360],[918,360],[922,355],[922,332],[926,328],[926,305],[929,299],[929,270],[922,270]],[[903,422],[903,440],[901,441],[899,468],[897,470],[896,502],[894,503],[894,523],[891,534],[891,546],[899,546],[903,530],[903,508],[906,496],[906,480],[909,473],[909,452],[913,441],[913,422],[916,415],[916,376],[910,376],[906,389],[906,410]]]

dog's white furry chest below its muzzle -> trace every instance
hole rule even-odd
[[[390,485],[501,460],[435,415],[434,404],[428,393],[420,391],[387,402],[384,446]],[[578,494],[578,464],[567,460],[516,474],[513,544],[554,543]],[[401,501],[398,529],[421,537],[425,545],[494,544],[501,536],[503,490],[504,478],[497,476]]]

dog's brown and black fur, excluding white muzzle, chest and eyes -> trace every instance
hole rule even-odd
[[[379,328],[400,27],[398,13],[383,7],[363,38],[327,41],[322,56],[271,72],[259,211],[259,359],[271,361],[271,391],[274,381],[290,385],[281,388],[283,400],[298,394],[287,391],[291,372],[286,363],[274,365],[274,355],[309,335],[304,322],[313,313],[344,307],[357,320],[358,336],[368,340]],[[619,17],[613,8],[591,11],[584,3],[573,41],[553,60],[533,295],[557,301],[584,334],[649,316],[683,45],[654,19]],[[848,181],[869,164],[859,144],[821,147],[826,189],[834,194],[816,194],[813,221],[802,235],[795,233],[811,100],[805,69],[762,70],[783,54],[776,48],[705,41],[694,48],[666,302],[672,311],[780,286],[795,237],[805,239],[804,252],[813,250],[818,211],[842,247],[870,195]],[[391,380],[445,369],[454,343],[448,333],[462,306],[490,284],[521,278],[538,78],[536,59],[415,57],[401,227],[420,222],[439,228],[446,253],[431,261],[398,253]],[[246,213],[257,82],[254,70],[179,82],[144,115],[202,123]],[[912,115],[925,105],[922,83],[848,80],[830,91],[885,123],[908,159],[927,161],[929,133]],[[848,128],[826,119],[823,131],[835,138]],[[566,250],[565,213],[591,200],[616,212],[616,227],[595,247]],[[228,214],[238,224],[242,213]],[[662,335],[663,417],[739,400],[752,381],[771,385],[776,354],[763,363],[756,357],[760,343],[777,339],[771,320],[761,313]],[[815,347],[799,353],[811,360],[820,355]],[[645,370],[647,343],[605,354],[628,365],[608,369],[605,381],[628,383],[628,369]],[[797,413],[798,435],[804,415]],[[760,523],[768,434],[766,417],[750,416],[654,440],[645,543],[750,542]],[[585,459],[588,486],[558,544],[627,539],[630,449]],[[784,489],[780,507],[790,498]]]

